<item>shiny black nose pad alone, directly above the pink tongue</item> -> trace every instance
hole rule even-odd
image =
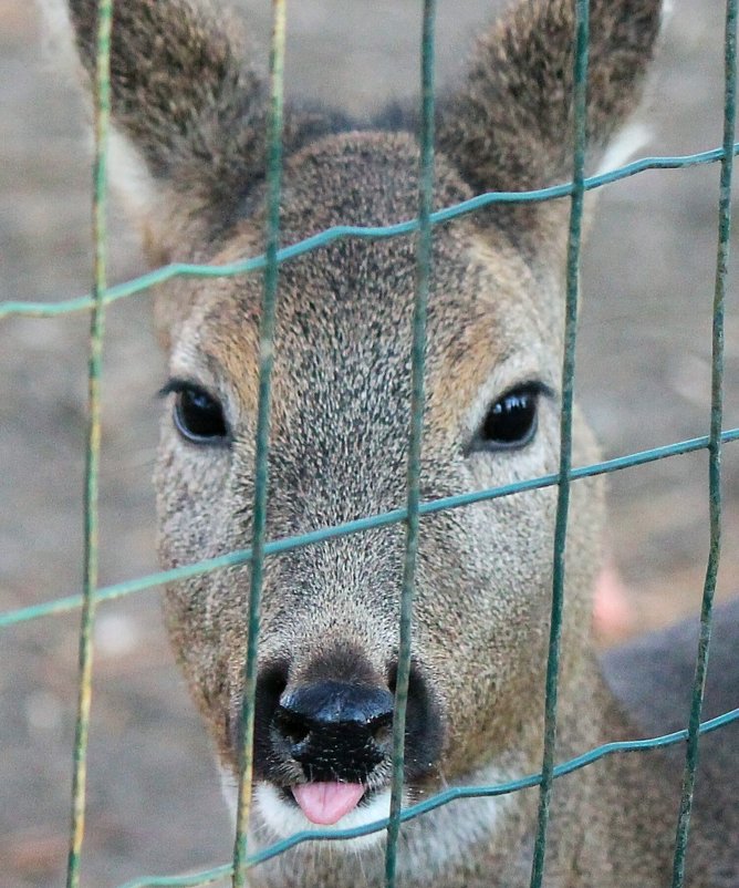
[[[305,684],[280,698],[272,739],[310,781],[360,783],[392,750],[393,694],[340,681]]]

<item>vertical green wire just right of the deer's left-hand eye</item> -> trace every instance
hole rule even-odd
[[[249,630],[241,715],[242,765],[239,781],[236,839],[233,843],[233,888],[244,888],[246,886],[247,830],[249,827],[253,778],[254,692],[257,688],[259,609],[262,592],[262,569],[264,564],[270,403],[272,394],[271,378],[272,364],[274,361],[274,314],[279,276],[277,254],[280,240],[284,43],[285,0],[272,0],[270,115],[267,161],[267,265],[264,268],[264,295],[259,332],[259,405],[257,419],[257,454],[254,458],[253,555],[251,560]]]

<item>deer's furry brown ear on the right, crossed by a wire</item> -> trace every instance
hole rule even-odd
[[[589,157],[603,158],[636,107],[660,0],[591,0]],[[520,0],[480,41],[441,105],[438,145],[477,192],[525,190],[572,174],[574,0]]]

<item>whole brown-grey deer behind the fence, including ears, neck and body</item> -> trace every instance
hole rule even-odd
[[[90,84],[95,2],[69,0],[65,14]],[[591,0],[593,168],[639,104],[664,14],[659,0]],[[570,179],[574,28],[573,0],[514,0],[480,37],[466,79],[439,96],[435,207]],[[153,267],[262,251],[268,86],[249,42],[248,21],[220,3],[115,4],[111,174]],[[416,124],[412,111],[353,121],[287,105],[281,242],[334,225],[416,217]],[[566,199],[492,204],[434,228],[424,499],[558,471],[569,211]],[[339,239],[280,266],[268,538],[405,503],[415,268],[412,235]],[[169,374],[155,471],[164,568],[250,545],[261,292],[256,273],[178,278],[155,293]],[[574,426],[575,464],[595,462],[579,409]],[[688,690],[674,677],[689,669],[691,644],[663,638],[644,642],[638,657],[596,655],[591,607],[603,564],[603,486],[597,477],[572,486],[558,761],[642,736],[633,713],[646,711],[648,722],[659,709],[662,725],[687,720]],[[538,488],[423,518],[404,806],[445,787],[540,771],[555,503],[554,488]],[[298,830],[388,815],[404,540],[396,524],[264,562],[250,850]],[[232,806],[249,580],[244,564],[169,584],[163,596]],[[722,650],[738,616],[733,608],[724,621]],[[730,709],[736,657],[721,662],[711,694]],[[704,740],[690,888],[739,885],[737,739],[735,724]],[[681,756],[612,755],[556,779],[543,884],[666,886]],[[537,805],[530,788],[459,799],[404,824],[397,884],[529,885]],[[250,869],[249,885],[374,888],[384,885],[385,846],[384,829],[308,840]]]

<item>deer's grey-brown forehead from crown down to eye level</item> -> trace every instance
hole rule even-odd
[[[294,244],[335,225],[388,225],[414,218],[418,156],[413,140],[387,133],[331,136],[290,158],[281,203],[281,242]],[[469,196],[441,157],[436,202]],[[246,210],[248,209],[248,215]],[[260,251],[264,196],[244,197],[244,217],[214,264]],[[277,309],[275,431],[309,402],[344,405],[382,394],[388,409],[407,401],[416,288],[416,238],[342,238],[280,267]],[[428,421],[457,434],[462,415],[492,378],[500,394],[527,378],[552,383],[556,335],[525,259],[493,226],[460,219],[434,229],[429,297]],[[259,275],[197,285],[173,370],[226,389],[253,415],[259,379]],[[406,422],[405,415],[398,422]]]

